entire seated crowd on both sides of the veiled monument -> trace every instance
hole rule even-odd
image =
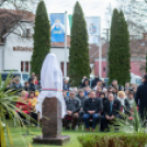
[[[37,121],[38,114],[35,111],[35,105],[39,91],[37,91],[36,84],[38,84],[37,78],[32,74],[24,87],[21,86],[19,77],[15,77],[9,83],[8,89],[12,88],[20,95],[16,108]],[[63,118],[63,126],[66,131],[70,127],[75,131],[77,126],[84,124],[87,132],[94,132],[100,123],[102,132],[109,131],[109,126],[113,124],[115,118],[123,118],[120,112],[131,115],[136,89],[137,86],[131,86],[128,82],[124,88],[120,87],[116,80],[106,87],[98,75],[93,81],[83,77],[77,89],[71,89],[69,81],[64,79],[63,97],[67,113]],[[24,118],[19,111],[18,113]],[[70,122],[71,126],[69,125]]]

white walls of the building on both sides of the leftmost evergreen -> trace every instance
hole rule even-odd
[[[33,23],[23,23],[24,27],[31,29],[33,34]],[[16,32],[16,30],[15,30]],[[4,70],[16,69],[21,71],[21,61],[31,61],[33,52],[26,50],[13,50],[13,47],[31,47],[33,48],[33,37],[27,39],[26,37],[20,37],[13,33],[8,35],[4,47]],[[0,70],[2,68],[0,46]],[[50,53],[54,53],[58,59],[58,63],[65,61],[65,48],[50,48]],[[69,63],[69,49],[67,49],[67,63]]]

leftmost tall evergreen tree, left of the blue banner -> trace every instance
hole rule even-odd
[[[41,75],[42,64],[50,49],[50,25],[44,1],[36,9],[34,26],[34,52],[32,56],[32,72]]]

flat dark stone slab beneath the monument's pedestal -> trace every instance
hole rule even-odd
[[[56,145],[56,146],[63,146],[65,143],[69,142],[70,137],[69,136],[59,136],[56,138],[43,138],[43,136],[37,136],[33,138],[33,143],[36,144],[48,144],[48,145]]]

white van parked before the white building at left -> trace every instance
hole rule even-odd
[[[20,72],[20,71],[12,71],[12,72],[11,71],[1,71],[0,72],[0,76],[1,76],[3,81],[7,79],[8,75],[10,75],[11,77],[19,76],[20,77],[20,82],[21,82],[22,86],[24,86],[24,82],[27,81],[29,77],[30,77],[29,72]]]

